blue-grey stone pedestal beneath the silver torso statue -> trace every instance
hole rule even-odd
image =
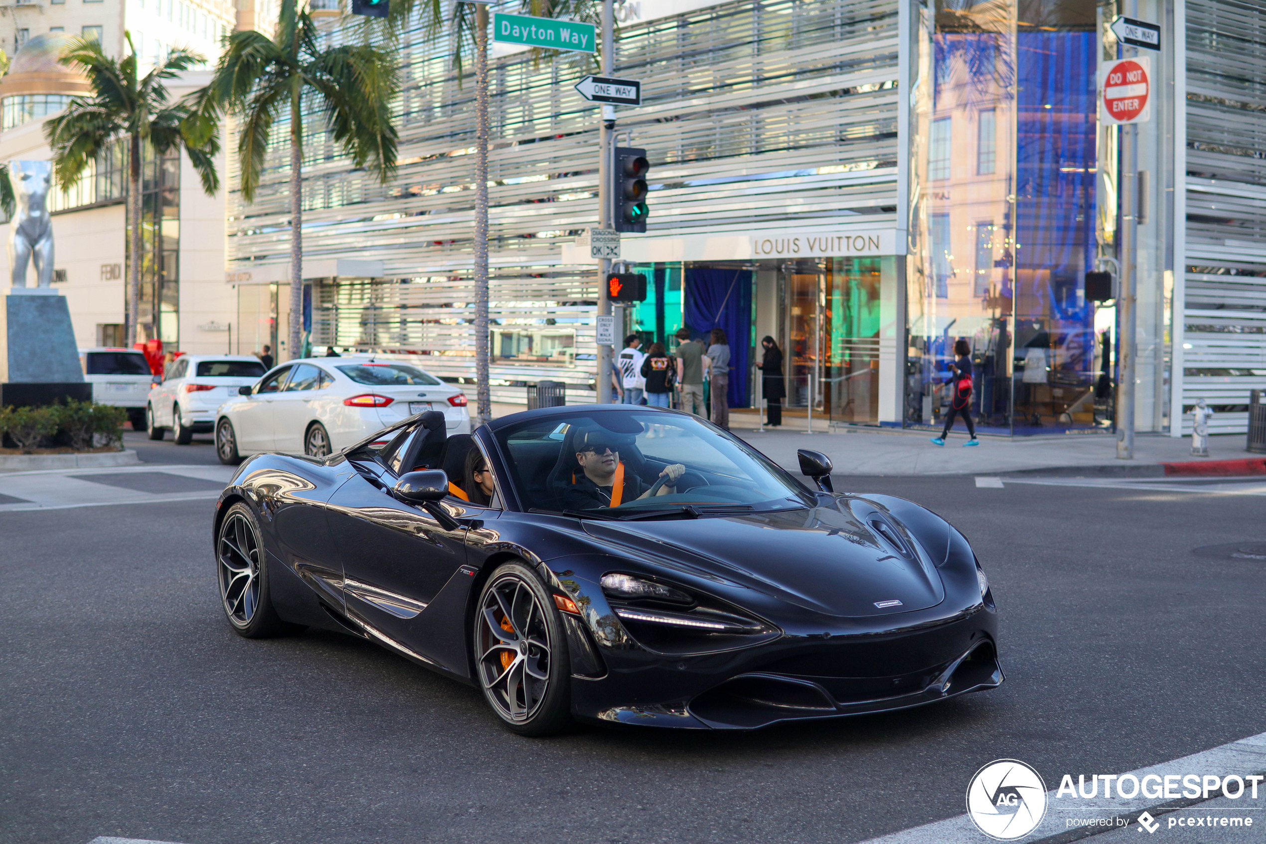
[[[0,304],[0,405],[91,401],[66,297],[53,287],[10,287]]]

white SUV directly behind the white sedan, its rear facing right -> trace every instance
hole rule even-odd
[[[149,391],[146,405],[149,439],[162,439],[170,428],[177,445],[195,433],[215,429],[215,409],[254,383],[263,364],[252,354],[185,354],[167,364],[162,383]]]

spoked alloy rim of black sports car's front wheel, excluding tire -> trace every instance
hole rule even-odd
[[[476,633],[480,682],[508,721],[527,721],[549,691],[552,648],[546,611],[518,574],[499,577],[484,593]]]

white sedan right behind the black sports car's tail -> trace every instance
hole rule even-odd
[[[324,457],[428,410],[444,414],[449,434],[471,430],[461,387],[401,361],[289,361],[241,394],[220,405],[215,423],[227,464],[260,452]]]

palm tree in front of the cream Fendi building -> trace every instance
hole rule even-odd
[[[208,195],[219,189],[215,154],[219,133],[210,127],[194,139],[181,130],[189,116],[185,102],[170,102],[167,80],[181,71],[201,65],[205,59],[186,49],[173,49],[167,58],[141,76],[141,58],[124,34],[128,54],[115,61],[105,54],[95,38],[75,38],[62,53],[62,65],[76,66],[87,76],[91,94],[77,96],[56,118],[44,123],[44,134],[53,151],[53,173],[57,183],[68,189],[89,163],[105,161],[115,144],[128,146],[128,345],[137,340],[137,316],[141,304],[141,153],[148,143],[163,154],[184,146],[197,171]]]

